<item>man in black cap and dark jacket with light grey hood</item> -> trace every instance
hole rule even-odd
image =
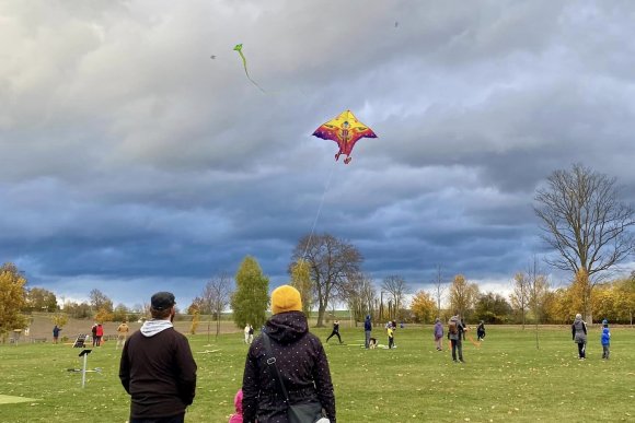
[[[196,363],[187,338],[174,330],[170,292],[152,295],[152,319],[124,344],[119,379],[131,397],[130,423],[183,423],[194,401]]]

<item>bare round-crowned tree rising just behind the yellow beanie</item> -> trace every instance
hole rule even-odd
[[[324,326],[324,314],[342,287],[359,273],[361,254],[355,246],[330,234],[307,235],[296,246],[291,266],[300,259],[309,262],[311,281],[318,301],[318,327]]]

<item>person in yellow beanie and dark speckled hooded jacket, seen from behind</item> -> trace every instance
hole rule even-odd
[[[290,285],[274,290],[272,313],[263,331],[270,338],[272,352],[290,403],[320,401],[326,416],[335,423],[335,395],[328,361],[320,339],[309,332],[298,290]],[[288,421],[287,404],[276,375],[267,365],[263,336],[254,339],[250,346],[242,389],[245,423]]]

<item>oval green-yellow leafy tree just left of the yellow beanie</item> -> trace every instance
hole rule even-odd
[[[231,295],[233,320],[239,328],[246,324],[259,328],[266,321],[269,307],[269,279],[252,256],[243,259],[235,274],[236,289]]]

